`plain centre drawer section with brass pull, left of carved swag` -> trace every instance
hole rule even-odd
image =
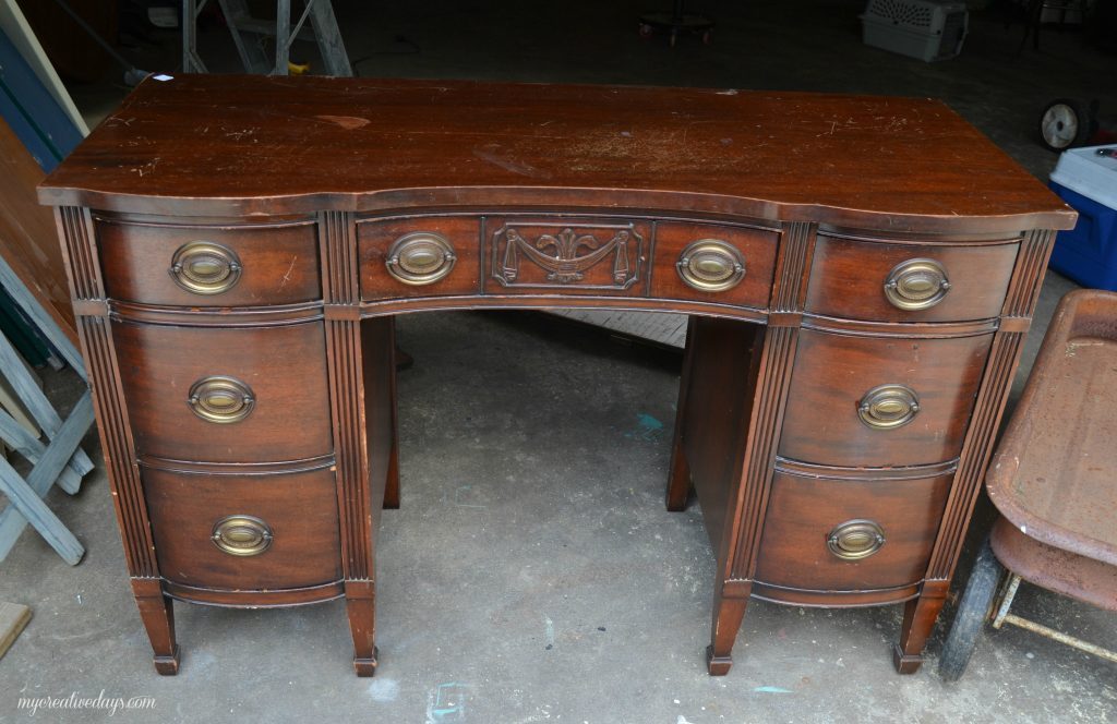
[[[480,220],[372,219],[357,223],[361,298],[477,294]]]

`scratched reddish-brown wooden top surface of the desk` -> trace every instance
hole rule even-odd
[[[556,191],[561,190],[561,191]],[[545,204],[1065,228],[933,99],[465,80],[145,80],[40,188],[153,213]]]

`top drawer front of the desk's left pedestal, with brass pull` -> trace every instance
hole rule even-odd
[[[321,298],[317,227],[173,226],[97,220],[111,298],[191,307]]]

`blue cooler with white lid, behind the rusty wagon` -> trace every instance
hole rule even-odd
[[[1117,292],[1117,159],[1091,146],[1059,156],[1051,189],[1078,211],[1078,223],[1060,231],[1051,268],[1086,287]]]

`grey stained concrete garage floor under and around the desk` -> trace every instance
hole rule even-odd
[[[634,18],[649,4],[668,3],[335,0],[351,57],[367,58],[362,75],[937,96],[1041,178],[1054,161],[1032,139],[1044,101],[1108,93],[1102,107],[1117,106],[1113,58],[1072,34],[1046,32],[1044,53],[1015,56],[1020,26],[977,16],[960,58],[925,65],[863,47],[858,1],[707,0],[696,4],[718,17],[714,44],[682,39],[672,50],[637,38]],[[173,72],[173,36],[154,38],[170,51],[140,48],[137,65]],[[212,68],[233,67],[228,45],[220,28],[203,35]],[[96,116],[121,92],[108,84],[75,96]],[[1049,275],[1018,387],[1072,287]],[[88,547],[80,565],[61,563],[34,533],[0,564],[0,600],[35,609],[0,660],[0,722],[30,715],[20,697],[102,690],[153,697],[153,709],[117,713],[123,721],[1117,721],[1114,665],[1020,630],[987,635],[966,677],[944,685],[935,656],[949,608],[927,665],[900,677],[889,657],[899,607],[753,602],[734,669],[707,677],[713,555],[697,506],[668,514],[661,504],[678,359],[545,320],[399,322],[416,365],[400,377],[403,508],[384,515],[380,537],[375,679],[352,676],[340,602],[179,604],[182,671],[156,676],[101,466],[78,496],[50,497]],[[60,400],[79,390],[71,375],[47,377]],[[99,459],[95,441],[87,449]],[[983,507],[972,539],[987,520]],[[1018,601],[1025,616],[1117,648],[1111,615],[1031,588]]]

